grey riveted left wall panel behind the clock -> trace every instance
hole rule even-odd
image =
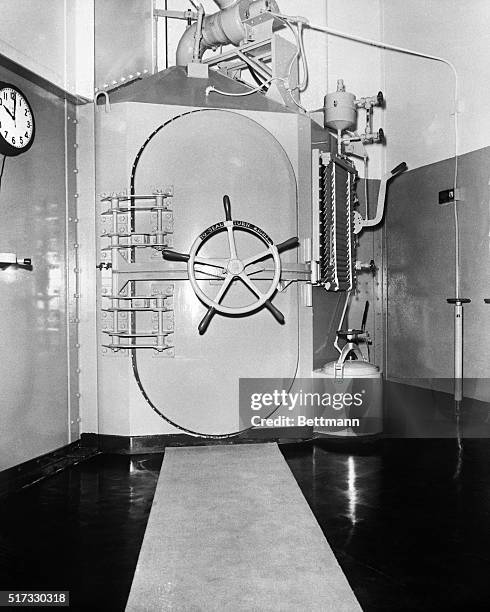
[[[73,301],[67,301],[67,202],[74,191],[74,109],[0,69],[19,86],[36,117],[32,148],[8,158],[0,191],[0,251],[31,257],[32,271],[0,270],[0,469],[67,444],[78,435],[76,353],[69,358]],[[66,128],[66,129],[65,129]],[[68,204],[68,207],[71,205]],[[71,234],[71,239],[73,236]],[[68,407],[71,402],[71,415]],[[74,420],[70,432],[69,420]]]

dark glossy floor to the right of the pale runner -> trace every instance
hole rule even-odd
[[[363,610],[490,610],[489,441],[352,451],[283,450]]]

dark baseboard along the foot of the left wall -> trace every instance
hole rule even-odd
[[[82,445],[80,440],[50,453],[24,461],[0,472],[0,498],[52,476],[60,470],[84,461],[98,453],[96,446]]]

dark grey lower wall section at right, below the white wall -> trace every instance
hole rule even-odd
[[[461,294],[465,306],[465,394],[490,400],[490,148],[461,156]],[[453,184],[454,159],[405,173],[390,186],[386,255],[387,361],[392,379],[422,379],[452,389],[453,207],[438,192]],[[433,380],[432,380],[433,379]]]

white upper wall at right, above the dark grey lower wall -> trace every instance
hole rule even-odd
[[[382,0],[387,43],[443,56],[459,74],[460,153],[490,144],[490,2]],[[389,133],[387,164],[415,168],[454,155],[454,79],[448,66],[385,52]]]

